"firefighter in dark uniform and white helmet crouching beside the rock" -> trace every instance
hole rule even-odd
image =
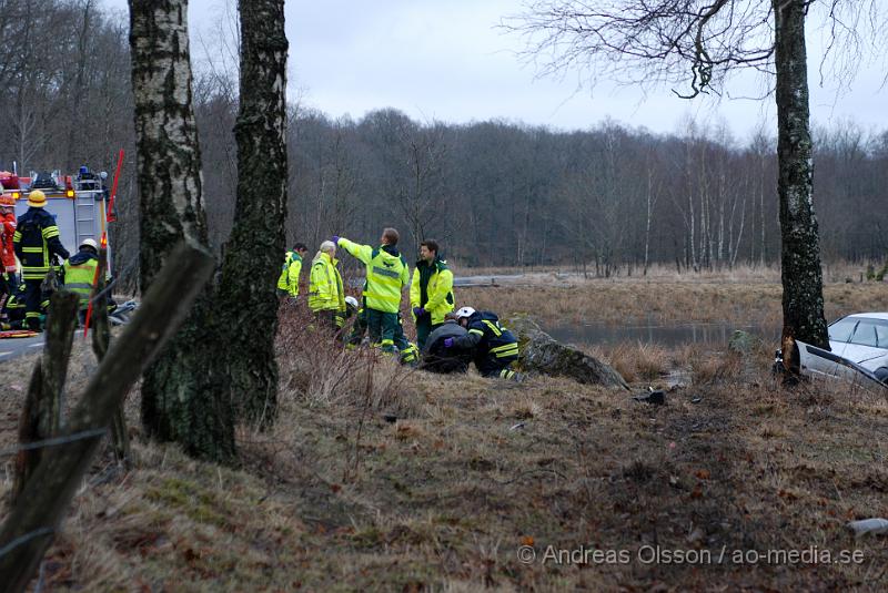
[[[500,318],[495,314],[463,307],[456,311],[455,317],[468,333],[465,336],[445,338],[445,348],[474,348],[475,366],[483,377],[516,381],[523,379],[522,375],[509,368],[518,359],[518,340],[512,331],[500,325]]]

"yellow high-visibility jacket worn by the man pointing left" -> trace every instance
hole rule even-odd
[[[340,247],[364,263],[367,279],[364,283],[364,301],[369,309],[397,313],[401,292],[410,282],[410,267],[404,256],[391,245],[371,247],[340,237]]]

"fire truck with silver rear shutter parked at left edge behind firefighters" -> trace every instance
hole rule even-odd
[[[28,211],[28,195],[33,190],[46,194],[44,209],[56,218],[59,238],[72,255],[78,252],[83,239],[101,242],[109,200],[107,180],[108,173],[103,171],[97,174],[87,166],[81,166],[75,175],[63,175],[60,171],[53,171],[32,172],[29,177],[20,177],[14,173],[0,172],[3,194],[11,194],[16,198],[16,216]],[[110,245],[108,257],[110,262]]]

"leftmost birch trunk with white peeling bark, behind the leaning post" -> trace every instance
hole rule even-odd
[[[140,197],[140,283],[151,286],[181,241],[208,245],[189,62],[188,0],[130,0]],[[234,458],[231,406],[205,389],[211,289],[145,371],[142,423],[161,441],[216,461]]]

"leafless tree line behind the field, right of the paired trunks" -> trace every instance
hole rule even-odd
[[[575,264],[605,276],[780,257],[776,139],[761,131],[738,141],[724,124],[688,120],[674,134],[613,121],[559,133],[421,124],[392,110],[357,122],[302,111],[292,130],[291,239],[372,236],[389,222],[413,241],[444,239],[462,264]],[[827,259],[888,255],[887,165],[888,131],[815,129]]]

